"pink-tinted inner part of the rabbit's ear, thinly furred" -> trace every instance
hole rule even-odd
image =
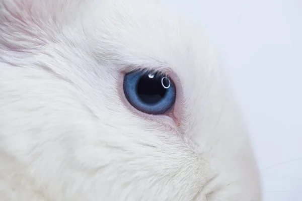
[[[37,10],[40,8],[42,5],[35,0],[0,0],[0,48],[30,52],[45,44],[43,16]]]

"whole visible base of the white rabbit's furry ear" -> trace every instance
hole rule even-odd
[[[0,0],[0,49],[27,52],[53,37],[80,0]],[[72,10],[73,9],[73,10]]]

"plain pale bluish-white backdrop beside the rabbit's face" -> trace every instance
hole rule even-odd
[[[302,201],[302,0],[167,0],[220,53],[261,170],[264,201]]]

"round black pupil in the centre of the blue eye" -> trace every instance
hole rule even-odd
[[[156,104],[166,94],[166,88],[161,83],[161,76],[158,74],[143,75],[137,83],[137,94],[142,102]]]

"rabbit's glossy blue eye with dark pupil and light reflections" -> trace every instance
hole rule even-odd
[[[145,71],[125,75],[124,93],[134,108],[153,115],[167,113],[176,99],[176,88],[169,77]]]

